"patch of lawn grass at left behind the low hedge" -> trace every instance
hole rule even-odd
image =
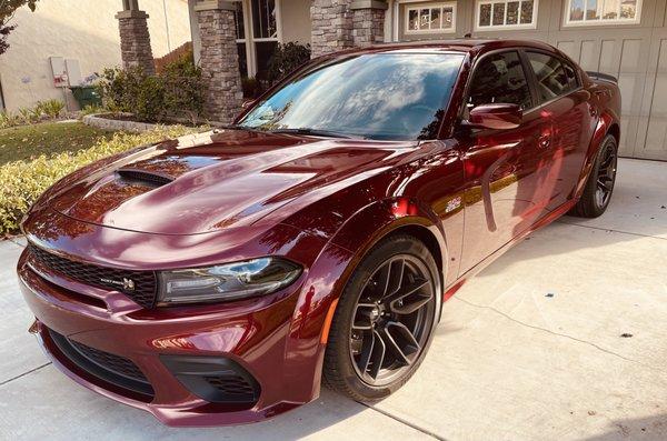
[[[110,139],[113,132],[81,122],[43,122],[0,130],[0,166],[59,153],[76,153]]]

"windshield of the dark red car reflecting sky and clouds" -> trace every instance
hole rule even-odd
[[[379,140],[435,138],[462,60],[455,53],[337,59],[293,78],[239,124]]]

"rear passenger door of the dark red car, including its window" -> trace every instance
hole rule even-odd
[[[588,143],[595,129],[597,109],[581,89],[577,70],[567,60],[552,53],[526,50],[540,101],[542,118],[552,122],[549,143],[539,144],[545,164],[539,170],[540,186],[548,191],[542,214],[557,209],[573,197],[581,172]]]

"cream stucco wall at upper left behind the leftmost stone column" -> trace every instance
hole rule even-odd
[[[168,53],[169,42],[176,49],[190,41],[185,0],[140,0],[139,6],[150,16],[155,57]],[[78,59],[83,77],[119,66],[120,37],[115,16],[121,9],[120,0],[41,0],[33,13],[28,8],[17,11],[13,23],[18,28],[9,38],[11,48],[0,56],[7,109],[17,110],[44,99],[63,99],[62,91],[53,87],[49,57]]]

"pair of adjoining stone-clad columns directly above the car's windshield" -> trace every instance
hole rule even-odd
[[[312,57],[384,42],[386,9],[378,0],[312,0]]]

